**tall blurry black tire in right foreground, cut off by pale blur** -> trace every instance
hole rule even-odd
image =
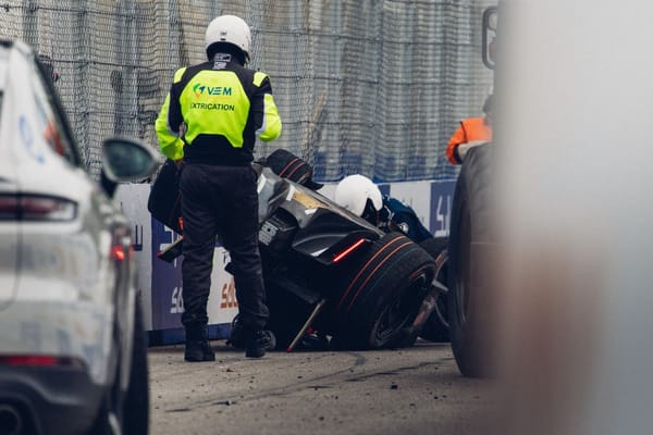
[[[494,373],[497,341],[493,330],[495,295],[489,261],[492,233],[492,150],[470,150],[458,175],[448,245],[448,319],[452,349],[460,373],[485,377]]]

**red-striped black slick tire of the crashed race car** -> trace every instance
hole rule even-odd
[[[410,326],[435,274],[433,259],[399,233],[374,241],[358,268],[345,272],[334,300],[338,347],[396,347]]]

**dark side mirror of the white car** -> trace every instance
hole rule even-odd
[[[131,138],[114,137],[102,144],[101,185],[113,196],[119,183],[135,182],[153,174],[159,167],[159,154],[145,144]]]

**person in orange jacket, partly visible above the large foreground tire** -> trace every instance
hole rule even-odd
[[[493,96],[483,103],[483,116],[460,121],[456,133],[446,147],[446,158],[452,164],[461,164],[467,152],[481,144],[492,140]]]

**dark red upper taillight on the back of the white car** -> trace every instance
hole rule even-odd
[[[75,202],[42,195],[0,195],[0,221],[72,221]]]

